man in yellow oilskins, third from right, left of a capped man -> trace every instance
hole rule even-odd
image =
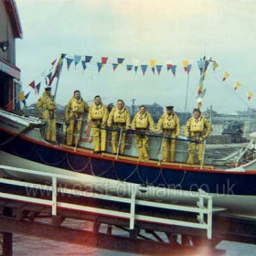
[[[139,150],[139,159],[148,160],[148,148],[149,148],[149,128],[155,133],[155,123],[149,112],[146,112],[145,106],[139,107],[133,118],[132,130],[137,133],[134,134],[134,139]]]

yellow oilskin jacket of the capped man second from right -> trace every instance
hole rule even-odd
[[[176,112],[172,112],[170,115],[168,115],[167,112],[164,112],[157,123],[157,130],[161,131],[162,127],[164,130],[176,131],[176,135],[180,134],[179,118],[176,115]]]

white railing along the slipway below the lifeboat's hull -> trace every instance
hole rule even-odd
[[[80,210],[83,212],[95,213],[95,214],[104,215],[104,216],[110,216],[114,218],[128,219],[130,229],[134,229],[135,221],[147,221],[151,223],[175,225],[175,226],[182,226],[187,228],[206,229],[208,239],[212,238],[212,197],[201,189],[199,189],[197,193],[196,206],[180,206],[180,205],[170,204],[170,203],[162,203],[162,202],[160,203],[155,200],[148,200],[148,199],[145,200],[145,199],[137,198],[136,192],[138,191],[133,191],[129,197],[117,197],[117,196],[106,195],[102,193],[88,192],[88,191],[70,189],[66,187],[63,188],[58,186],[59,180],[62,180],[62,181],[67,180],[67,182],[70,182],[70,181],[81,182],[80,177],[64,176],[64,175],[47,173],[47,172],[39,172],[39,171],[22,169],[22,168],[16,168],[13,166],[6,166],[6,165],[0,165],[0,169],[4,169],[8,174],[14,175],[15,173],[16,174],[19,173],[19,175],[23,174],[24,176],[34,176],[35,178],[41,178],[41,179],[43,177],[45,179],[46,178],[50,179],[51,185],[19,181],[19,180],[11,179],[9,177],[1,177],[0,183],[7,184],[10,186],[25,187],[25,188],[29,187],[32,189],[36,188],[36,189],[50,191],[51,199],[40,198],[40,197],[29,197],[29,195],[23,196],[23,195],[16,195],[16,194],[5,193],[5,192],[0,192],[0,197],[51,207],[51,214],[53,216],[56,216],[58,214],[58,208],[67,208],[67,209]],[[80,197],[96,198],[96,199],[101,199],[103,201],[125,203],[130,206],[130,212],[63,202],[63,201],[60,201],[60,199],[58,199],[57,197],[59,193],[73,195],[73,196],[80,196]],[[179,195],[181,193],[182,191],[179,191]],[[185,195],[186,197],[195,197],[195,195],[188,196],[187,192],[184,191],[184,196]],[[139,214],[139,213],[136,213],[137,206],[154,208],[154,211],[157,211],[159,209],[166,209],[166,210],[177,211],[177,212],[194,213],[194,214],[197,214],[197,219],[195,218],[195,221],[186,221],[186,220],[176,220],[176,219],[169,219],[169,218],[162,218],[162,217],[159,218],[159,217],[152,216],[150,214],[146,214],[146,215]]]

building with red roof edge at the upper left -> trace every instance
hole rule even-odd
[[[22,28],[15,0],[0,0],[0,108],[18,108],[17,95],[21,85],[20,69],[16,67],[16,38]]]

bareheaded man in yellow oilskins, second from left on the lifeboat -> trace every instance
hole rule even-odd
[[[66,106],[67,144],[73,145],[79,142],[83,124],[84,112],[89,112],[89,105],[80,97],[80,91],[74,91],[74,96]]]

